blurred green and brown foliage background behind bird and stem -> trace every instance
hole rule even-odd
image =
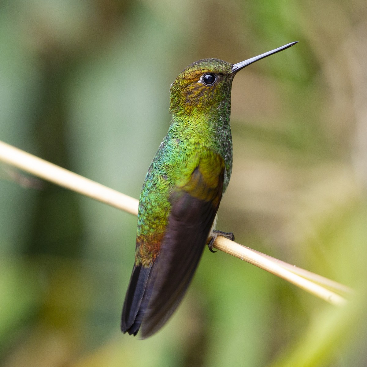
[[[365,0],[3,0],[0,139],[138,197],[169,87],[239,62],[218,227],[357,289],[337,309],[204,251],[156,335],[120,333],[137,219],[0,166],[0,360],[13,366],[366,366]]]

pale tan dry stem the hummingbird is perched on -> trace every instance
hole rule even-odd
[[[65,170],[65,168],[58,167],[55,164],[23,152],[1,141],[0,161],[131,214],[138,214],[137,199]],[[345,294],[352,292],[350,288],[343,284],[339,284],[307,270],[297,268],[284,261],[262,254],[261,252],[251,250],[248,247],[230,241],[222,236],[217,237],[214,247],[279,276],[316,297],[336,306],[342,306],[346,303],[345,298],[336,292]]]

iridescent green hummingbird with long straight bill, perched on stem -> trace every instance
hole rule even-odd
[[[204,247],[218,235],[216,215],[232,172],[230,95],[236,73],[297,42],[231,64],[203,59],[170,89],[171,125],[146,174],[139,199],[135,264],[121,330],[156,333],[181,302]]]

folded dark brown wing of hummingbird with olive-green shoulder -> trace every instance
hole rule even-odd
[[[185,294],[222,197],[225,163],[217,153],[201,149],[187,162],[185,172],[171,192],[168,228],[150,274],[143,338],[163,326]]]

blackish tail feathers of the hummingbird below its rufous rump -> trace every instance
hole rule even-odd
[[[139,331],[151,293],[146,289],[151,269],[152,266],[144,268],[142,265],[132,269],[121,316],[123,333],[136,335]]]

